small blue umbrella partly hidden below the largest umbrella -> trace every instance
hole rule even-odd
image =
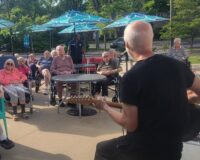
[[[65,28],[64,30],[60,31],[59,34],[74,33],[74,30],[76,30],[76,32],[89,32],[98,31],[100,28],[94,24],[76,24]]]

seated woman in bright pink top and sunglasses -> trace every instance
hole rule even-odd
[[[21,105],[22,118],[28,118],[25,113],[25,92],[26,88],[23,82],[27,77],[15,68],[15,63],[12,59],[7,59],[4,63],[4,69],[0,70],[0,84],[3,85],[5,92],[10,97],[10,103],[13,107],[13,120],[19,119],[17,115],[18,100]]]

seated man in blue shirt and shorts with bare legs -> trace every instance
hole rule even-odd
[[[49,51],[45,51],[44,56],[40,58],[40,60],[37,63],[37,67],[39,68],[39,71],[44,76],[44,82],[45,82],[45,89],[44,94],[48,94],[48,87],[50,84],[51,74],[49,72],[50,66],[52,63],[53,58],[51,57]]]

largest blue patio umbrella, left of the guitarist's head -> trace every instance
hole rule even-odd
[[[63,14],[58,18],[54,18],[49,22],[45,23],[45,26],[49,27],[62,27],[62,26],[70,26],[76,23],[108,23],[110,19],[103,18],[96,15],[91,15],[88,13],[80,12],[80,11],[69,11]]]

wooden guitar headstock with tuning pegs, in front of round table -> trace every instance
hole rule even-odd
[[[92,104],[95,101],[95,98],[91,96],[72,96],[67,98],[68,103],[72,104],[83,104],[83,105],[89,105]]]

